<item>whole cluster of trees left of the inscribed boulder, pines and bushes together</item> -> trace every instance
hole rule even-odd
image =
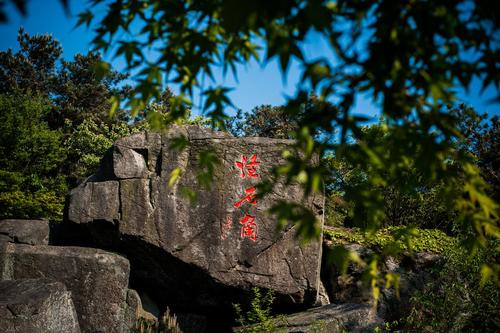
[[[96,74],[97,53],[62,59],[50,35],[20,29],[19,50],[0,51],[0,218],[62,218],[68,188],[97,169],[114,140],[132,132],[109,118],[111,97],[125,96],[126,75]]]

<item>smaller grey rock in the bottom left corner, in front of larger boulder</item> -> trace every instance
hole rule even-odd
[[[0,281],[0,328],[3,333],[79,333],[69,292],[49,279]]]

